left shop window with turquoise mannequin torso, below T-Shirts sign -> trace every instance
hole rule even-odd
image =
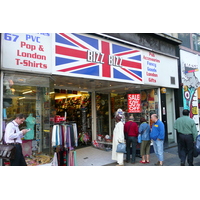
[[[26,121],[19,128],[31,128],[31,131],[23,138],[24,156],[29,159],[39,154],[40,156],[46,155],[46,162],[50,161],[49,78],[24,74],[4,74],[3,122],[7,124],[19,113],[26,116]],[[27,163],[29,163],[28,160]]]

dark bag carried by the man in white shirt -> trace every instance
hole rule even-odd
[[[3,142],[4,135],[0,141]],[[14,140],[16,141],[16,140]],[[0,159],[14,159],[16,153],[16,147],[11,144],[0,144]]]

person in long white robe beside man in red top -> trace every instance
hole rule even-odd
[[[117,161],[117,166],[124,165],[124,154],[116,152],[117,145],[124,142],[124,124],[122,123],[121,119],[122,116],[119,114],[115,117],[117,123],[113,130],[112,160]]]

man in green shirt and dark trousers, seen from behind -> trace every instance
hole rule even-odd
[[[186,157],[189,166],[193,166],[194,141],[198,135],[196,124],[194,120],[189,117],[189,114],[190,111],[184,109],[183,116],[179,117],[174,123],[174,129],[177,130],[179,137],[179,157],[181,166],[185,166]]]

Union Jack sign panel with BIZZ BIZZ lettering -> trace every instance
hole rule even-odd
[[[122,82],[143,81],[139,50],[76,33],[56,33],[55,41],[56,73]]]

